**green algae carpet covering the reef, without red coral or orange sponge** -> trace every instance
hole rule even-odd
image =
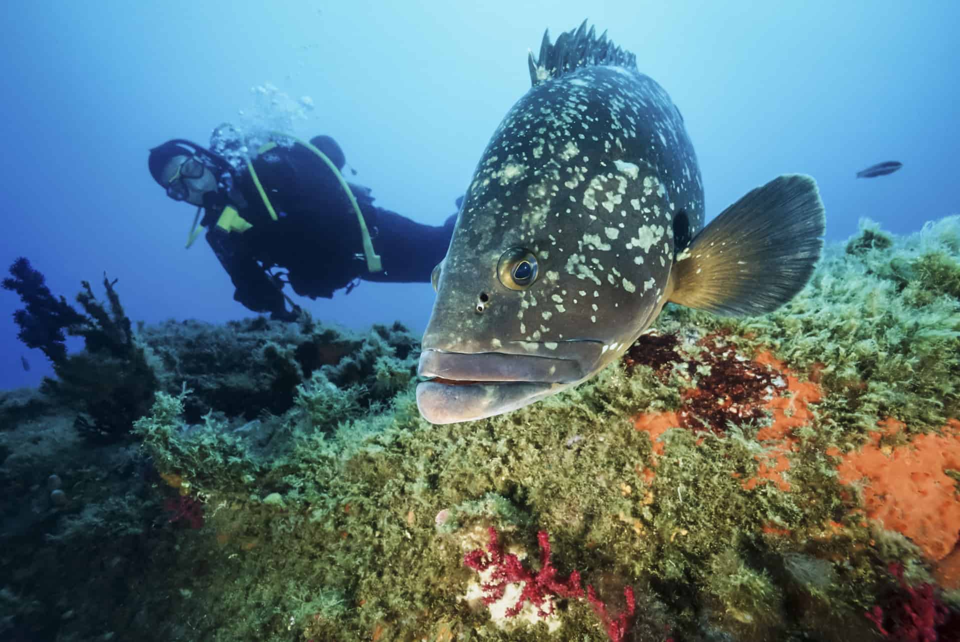
[[[477,577],[463,556],[493,526],[532,557],[547,531],[560,572],[578,570],[614,606],[634,586],[634,639],[851,639],[890,585],[887,562],[916,582],[929,576],[911,542],[855,511],[855,488],[838,484],[828,449],[856,447],[886,416],[928,432],[957,415],[958,229],[951,218],[898,238],[865,224],[773,315],[668,308],[657,330],[680,340],[658,368],[615,364],[574,391],[464,424],[420,418],[418,345],[400,326],[359,336],[313,321],[145,328],[163,390],[135,422],[139,448],[125,460],[144,482],[128,473],[131,487],[118,489],[107,464],[62,473],[84,479],[83,505],[50,513],[37,527],[51,535],[46,555],[16,590],[0,588],[19,596],[7,602],[21,620],[36,617],[36,601],[80,613],[60,625],[64,640],[91,630],[542,639],[543,622],[500,630],[464,599]],[[728,358],[772,350],[819,378],[824,398],[785,455],[788,490],[744,484],[771,453],[757,439],[769,416],[655,440],[635,428],[636,415],[681,410],[685,390],[724,371],[708,366],[716,351],[702,341],[717,333],[717,349],[738,351]],[[25,447],[16,433],[0,432],[5,460]],[[0,466],[5,479],[12,465]],[[95,495],[97,475],[110,494]],[[169,521],[162,500],[178,496],[204,503],[203,528]],[[111,522],[121,530],[105,530]],[[127,581],[149,590],[114,606],[106,624],[92,615],[103,599],[92,591],[44,596],[39,576],[71,547],[98,563],[136,557]],[[76,583],[89,574],[80,559],[64,568]],[[558,610],[557,639],[605,639],[588,605]]]

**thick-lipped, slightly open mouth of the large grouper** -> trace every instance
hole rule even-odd
[[[508,413],[560,392],[588,375],[583,361],[503,352],[420,353],[420,415],[431,423]]]

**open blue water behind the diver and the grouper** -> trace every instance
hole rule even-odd
[[[527,49],[585,17],[680,107],[708,217],[789,172],[819,181],[829,239],[864,216],[909,232],[960,211],[957,2],[12,0],[0,3],[0,268],[26,255],[70,300],[82,279],[102,295],[106,271],[133,320],[248,316],[205,243],[184,250],[193,208],[156,186],[149,148],[287,118],[333,135],[378,204],[439,225],[529,87]],[[312,111],[298,111],[303,96]],[[895,175],[853,178],[893,159]],[[420,331],[432,300],[428,284],[363,283],[300,304]],[[0,389],[51,372],[15,338],[19,305],[0,291]]]

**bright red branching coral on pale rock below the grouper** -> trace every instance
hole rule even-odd
[[[481,584],[481,588],[486,593],[483,598],[485,605],[491,605],[500,600],[507,590],[507,584],[519,582],[523,583],[523,592],[516,601],[516,605],[506,610],[507,617],[516,616],[527,601],[537,606],[540,617],[547,617],[553,613],[552,603],[550,610],[543,609],[543,603],[547,602],[548,597],[584,597],[584,589],[580,585],[580,573],[573,571],[565,580],[557,576],[557,569],[550,561],[549,535],[545,531],[540,531],[537,534],[537,541],[540,544],[540,570],[536,575],[524,568],[516,555],[503,552],[503,546],[493,527],[490,528],[490,541],[487,543],[486,550],[475,549],[464,556],[464,563],[477,572],[492,569],[491,582]],[[587,601],[593,607],[593,612],[603,622],[612,642],[623,641],[636,610],[633,587],[624,588],[623,596],[626,599],[627,608],[614,618],[608,612],[607,605],[601,602],[593,592],[593,586],[587,586]]]

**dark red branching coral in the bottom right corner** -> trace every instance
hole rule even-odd
[[[957,642],[960,640],[960,615],[951,611],[930,583],[910,586],[903,580],[903,565],[892,563],[890,572],[900,590],[884,609],[874,606],[864,613],[888,640],[897,642]]]

